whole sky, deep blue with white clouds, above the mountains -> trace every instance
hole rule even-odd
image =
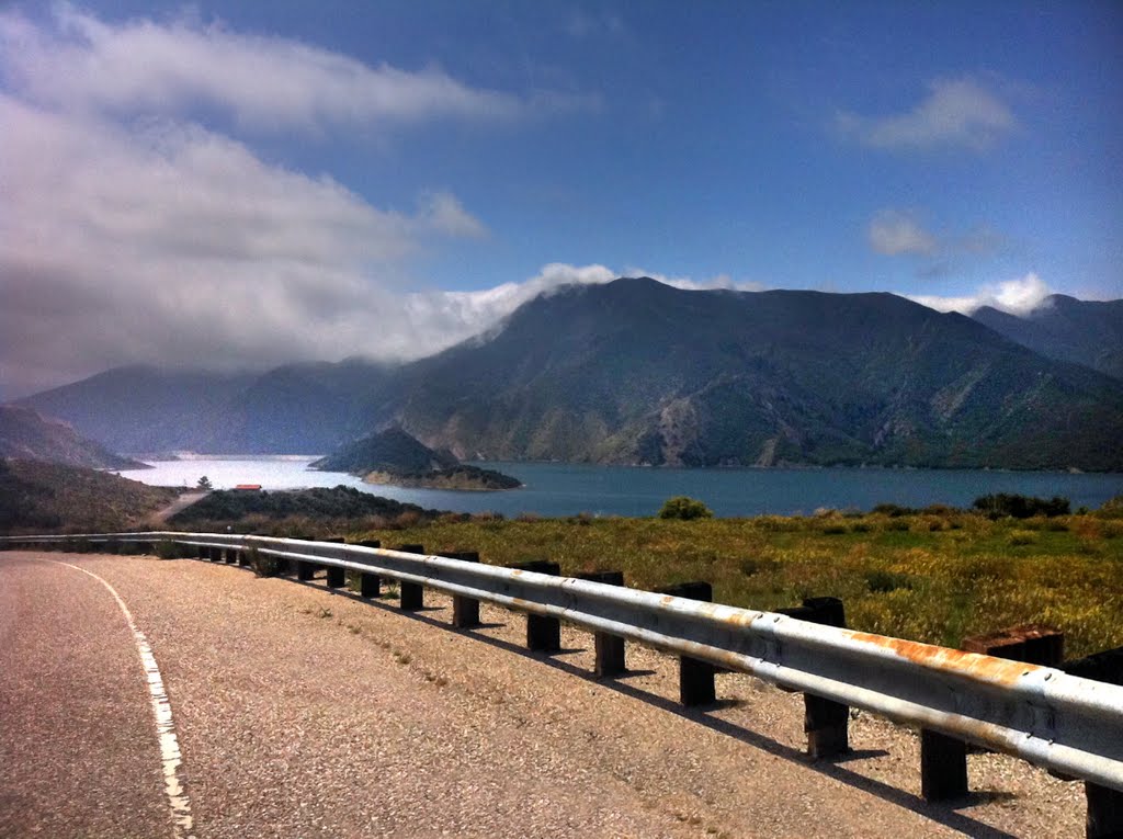
[[[2,4],[0,383],[418,355],[639,271],[1123,297],[1121,89],[1117,2]]]

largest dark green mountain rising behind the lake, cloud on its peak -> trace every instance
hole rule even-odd
[[[1119,382],[878,293],[572,286],[369,416],[462,457],[1123,468]]]

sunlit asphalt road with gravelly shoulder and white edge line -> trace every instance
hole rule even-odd
[[[150,644],[163,739],[100,581]],[[0,837],[1083,832],[1079,784],[1004,756],[971,756],[979,792],[930,806],[904,729],[860,717],[855,755],[813,764],[797,695],[730,674],[718,709],[683,712],[661,654],[629,646],[632,675],[600,683],[585,633],[544,658],[520,615],[456,632],[427,600],[408,617],[225,565],[0,553]]]

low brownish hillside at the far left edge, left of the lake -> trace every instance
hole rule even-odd
[[[30,408],[0,404],[0,458],[42,460],[90,468],[145,468],[80,437],[65,422],[42,417]]]

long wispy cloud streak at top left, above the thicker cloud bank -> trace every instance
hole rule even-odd
[[[66,110],[122,116],[217,109],[257,130],[321,130],[439,118],[508,120],[593,104],[473,88],[439,69],[369,66],[279,37],[181,19],[107,24],[55,7],[52,28],[0,13],[0,66],[9,88]]]

